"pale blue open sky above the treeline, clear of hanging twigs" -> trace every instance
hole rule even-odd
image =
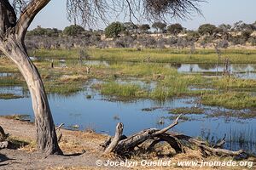
[[[193,14],[191,20],[170,20],[170,23],[180,23],[189,30],[195,30],[202,24],[211,23],[216,26],[220,24],[232,25],[236,21],[243,20],[246,23],[256,21],[256,0],[207,0],[201,3],[203,16]],[[116,19],[109,19],[116,21]],[[125,22],[127,20],[119,20]],[[37,26],[45,28],[64,29],[70,26],[67,20],[66,0],[51,0],[50,3],[36,16],[29,30]],[[96,29],[103,29],[105,25],[100,23]]]

